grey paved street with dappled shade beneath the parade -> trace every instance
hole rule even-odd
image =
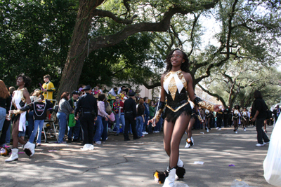
[[[272,130],[268,127],[269,137]],[[184,148],[186,135],[181,141],[186,174],[179,182],[190,187],[230,186],[233,180],[241,179],[249,186],[271,186],[263,178],[268,145],[255,146],[253,127],[246,132],[240,128],[238,134],[233,128],[192,132],[195,146]],[[42,144],[32,158],[25,153],[19,154],[18,162],[5,163],[6,157],[0,158],[1,186],[161,186],[152,174],[155,169],[166,169],[169,162],[162,136],[148,134],[136,141],[123,141],[122,136],[110,134],[93,151],[81,151],[79,143]],[[195,165],[195,161],[204,165]]]

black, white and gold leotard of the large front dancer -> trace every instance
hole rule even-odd
[[[164,77],[163,87],[166,91],[166,111],[165,116],[167,121],[173,123],[181,116],[181,113],[190,115],[192,109],[188,102],[188,84],[185,81],[181,70],[170,71]]]

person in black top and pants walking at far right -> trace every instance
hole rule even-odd
[[[251,120],[256,122],[256,132],[258,134],[258,144],[256,146],[264,146],[269,143],[268,136],[262,130],[263,122],[266,119],[267,106],[260,91],[256,90],[254,92],[254,98],[253,106],[251,106],[251,116],[253,116]]]

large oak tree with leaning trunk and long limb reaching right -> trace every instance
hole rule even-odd
[[[188,14],[195,11],[214,8],[217,0],[213,1],[123,1],[126,11],[122,15],[115,15],[111,11],[97,9],[103,4],[104,0],[80,0],[79,11],[77,14],[76,24],[72,34],[70,49],[67,54],[67,61],[63,69],[63,75],[58,88],[58,96],[65,91],[71,92],[77,89],[79,77],[87,55],[100,48],[114,46],[123,41],[128,36],[138,32],[166,32],[171,23],[171,18],[177,14]],[[137,6],[135,4],[138,4]],[[131,7],[134,8],[131,8]],[[149,6],[157,12],[154,21],[146,22],[134,19],[138,16],[138,7]],[[128,18],[128,15],[132,15]],[[149,15],[150,16],[150,15]],[[124,25],[119,31],[106,36],[96,36],[89,39],[91,23],[94,17],[107,17],[115,22]]]

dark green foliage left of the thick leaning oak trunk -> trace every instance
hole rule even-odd
[[[0,72],[7,86],[24,73],[31,89],[51,75],[58,85],[75,24],[77,1],[1,1]]]

